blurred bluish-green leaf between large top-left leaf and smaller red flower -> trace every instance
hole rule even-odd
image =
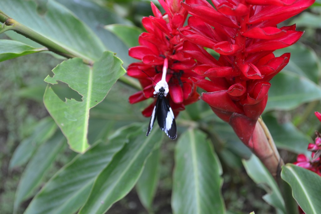
[[[129,63],[134,62],[135,59],[128,56],[128,48],[131,46],[126,45],[122,39],[118,38],[114,33],[106,30],[105,25],[121,23],[131,24],[128,20],[123,19],[114,11],[102,7],[92,1],[88,0],[57,0],[69,10],[71,10],[80,20],[87,24],[92,31],[103,42],[105,47],[117,54],[117,57],[121,58],[124,62],[124,66],[127,67]],[[90,11],[90,15],[88,14]],[[138,41],[138,35],[131,34],[130,40]]]

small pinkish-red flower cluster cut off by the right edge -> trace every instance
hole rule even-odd
[[[321,114],[319,112],[315,112],[315,115],[321,122]],[[299,167],[303,167],[306,169],[311,170],[312,172],[317,173],[321,176],[321,134],[319,132],[316,132],[316,139],[314,143],[309,143],[308,145],[308,151],[312,151],[311,158],[308,158],[304,154],[299,154],[297,157],[297,161],[294,162],[295,165]]]

